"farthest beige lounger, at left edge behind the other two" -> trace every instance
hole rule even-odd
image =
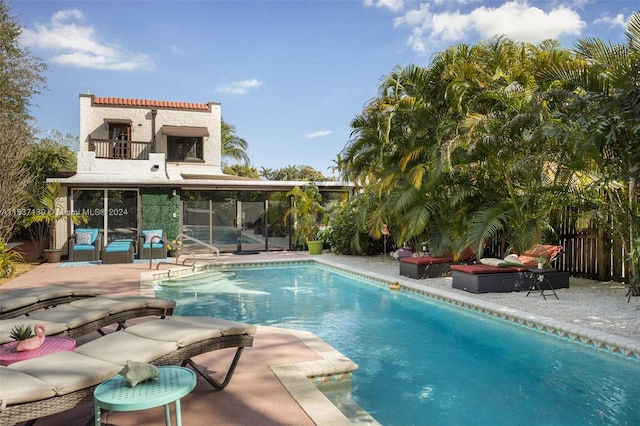
[[[0,319],[14,318],[38,309],[95,297],[97,288],[52,285],[0,292]]]

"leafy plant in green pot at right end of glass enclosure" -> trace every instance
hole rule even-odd
[[[318,186],[314,183],[302,188],[296,186],[287,195],[291,197],[291,207],[285,212],[284,220],[291,217],[294,221],[296,245],[306,244],[309,254],[321,254],[324,246],[322,232],[326,228],[328,215],[322,205]]]

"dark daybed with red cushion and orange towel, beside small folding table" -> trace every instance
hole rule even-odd
[[[504,259],[480,259],[486,263],[473,265],[451,265],[452,287],[470,293],[506,293],[529,290],[537,279],[529,269],[537,266],[538,258],[554,262],[562,253],[561,246],[537,245],[517,256],[520,262],[500,262]],[[519,263],[519,264],[518,264]],[[498,266],[501,265],[501,266]],[[542,289],[549,290],[569,288],[569,273],[565,271],[545,272],[548,282],[541,284]],[[545,288],[546,287],[546,288]]]

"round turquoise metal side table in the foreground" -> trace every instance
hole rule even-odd
[[[102,382],[93,391],[95,425],[101,423],[101,410],[137,411],[164,405],[164,419],[171,426],[169,404],[175,402],[176,425],[182,425],[180,398],[196,387],[196,374],[186,367],[158,367],[160,377],[129,387],[122,376],[115,376]]]

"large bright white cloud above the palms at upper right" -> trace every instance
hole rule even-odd
[[[408,26],[411,35],[407,43],[414,51],[425,53],[432,44],[462,42],[471,34],[476,34],[481,40],[506,35],[517,41],[538,43],[565,34],[579,35],[585,22],[567,6],[557,6],[546,12],[529,6],[526,1],[513,0],[499,7],[480,6],[467,13],[459,9],[435,12],[429,3],[421,3],[418,9],[397,17],[394,26]]]

